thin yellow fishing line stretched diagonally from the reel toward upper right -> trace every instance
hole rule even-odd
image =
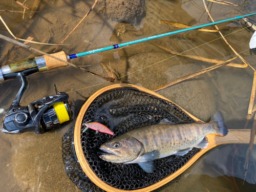
[[[253,25],[254,25],[254,24],[253,24]],[[232,33],[229,33],[229,34],[226,34],[226,35],[223,35],[223,36],[226,37],[226,36],[228,36],[228,35],[231,35],[231,34],[233,34],[233,33],[239,32],[239,31],[241,31],[241,30],[243,30],[243,29],[246,29],[246,28],[249,28],[249,27],[245,27],[245,28],[239,29],[239,30],[237,30],[237,31],[234,31],[234,32],[232,32]],[[181,55],[181,54],[186,53],[186,52],[188,52],[188,51],[191,51],[191,50],[193,50],[193,49],[199,48],[199,47],[201,47],[201,46],[204,46],[204,45],[206,45],[206,44],[209,44],[210,42],[214,42],[214,41],[216,41],[216,40],[218,40],[218,39],[221,39],[221,38],[222,38],[222,37],[216,38],[216,39],[214,39],[214,40],[211,40],[211,41],[209,41],[209,42],[206,42],[205,44],[202,44],[202,45],[200,45],[200,46],[194,47],[194,48],[192,48],[192,49],[189,49],[189,50],[187,50],[187,51],[184,51],[184,52],[179,53],[179,54],[177,54],[177,55],[174,55],[174,56],[172,56],[172,57],[168,57],[168,58],[166,58],[166,59],[164,59],[164,60],[161,60],[161,61],[158,61],[158,62],[156,62],[156,63],[153,63],[153,64],[150,65],[150,66],[147,66],[147,67],[144,67],[144,68],[139,69],[139,70],[137,70],[137,71],[134,71],[134,72],[132,72],[132,73],[126,74],[126,75],[124,75],[124,76],[122,76],[122,77],[119,77],[119,78],[117,78],[117,79],[121,79],[121,78],[126,77],[126,76],[128,76],[128,75],[137,73],[137,72],[139,72],[139,71],[141,71],[141,70],[144,70],[144,69],[146,69],[146,68],[152,67],[152,66],[154,66],[154,65],[156,65],[156,64],[158,64],[158,63],[160,63],[160,62],[166,61],[166,60],[168,60],[168,59],[170,59],[170,58],[176,57],[176,56],[178,56],[178,55]],[[99,85],[105,84],[105,83],[109,83],[109,82],[103,82],[103,83],[95,84],[95,85],[93,85],[93,86],[89,86],[89,87],[86,87],[86,88],[77,89],[77,90],[70,91],[70,92],[67,92],[67,93],[72,93],[72,92],[75,92],[75,91],[80,91],[80,90],[87,89],[87,88],[91,88],[91,87],[94,87],[94,86],[99,86]]]

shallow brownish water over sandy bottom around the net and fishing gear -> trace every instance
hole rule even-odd
[[[210,14],[215,21],[256,11],[255,1],[229,0],[229,2],[238,4],[238,6],[206,1]],[[32,8],[33,3],[33,0],[29,0],[24,5]],[[10,30],[17,37],[26,39],[31,36],[36,41],[58,44],[77,25],[93,3],[94,1],[78,0],[40,1],[38,12],[32,18],[29,18],[30,12],[26,11],[24,19],[23,13],[0,12]],[[79,53],[111,46],[119,42],[178,30],[178,28],[158,24],[159,19],[189,25],[202,25],[210,22],[201,0],[152,0],[145,1],[145,6],[145,17],[140,23],[131,26],[127,23],[120,24],[118,21],[108,19],[101,11],[102,4],[96,4],[84,22],[65,41],[68,45],[61,46],[61,50],[68,54]],[[2,0],[0,9],[24,11],[14,0]],[[249,19],[255,23],[256,16],[251,16]],[[125,26],[126,31],[117,36],[117,31],[122,26]],[[218,26],[223,35],[227,35],[226,39],[229,44],[255,68],[255,55],[249,50],[249,40],[253,31],[242,29],[239,20],[219,24]],[[2,24],[0,33],[10,37]],[[226,60],[235,56],[223,39],[215,40],[219,37],[219,33],[190,31],[153,40],[153,42],[178,53],[193,49],[185,54],[210,59]],[[56,47],[37,44],[28,45],[48,53],[52,53]],[[39,55],[23,48],[14,50],[16,47],[5,40],[0,40],[1,65]],[[128,81],[150,90],[156,89],[171,80],[199,71],[202,67],[207,68],[212,65],[208,62],[187,57],[172,56],[172,54],[152,44],[152,41],[147,41],[119,50],[73,59],[72,63],[79,66],[90,65],[86,69],[101,75],[107,74],[101,67],[100,62],[104,65],[110,63],[111,67],[122,77],[116,81],[117,83]],[[162,61],[166,58],[169,59]],[[233,60],[233,62],[242,63],[239,58]],[[251,68],[224,66],[208,74],[183,81],[158,93],[202,120],[207,120],[217,110],[221,110],[228,129],[243,129],[248,111],[252,80],[253,70]],[[34,100],[55,94],[53,88],[55,83],[59,91],[68,92],[77,111],[90,95],[111,84],[72,67],[32,74],[28,76],[28,82],[29,86],[20,105],[25,106]],[[19,87],[20,81],[18,79],[0,83],[1,109],[7,110],[9,108]],[[77,111],[75,114],[77,114]],[[0,119],[2,117],[3,113],[0,114]],[[70,126],[71,123],[62,126],[61,129],[42,135],[36,135],[34,132],[21,135],[0,133],[1,191],[78,190],[67,177],[61,157],[61,138]],[[251,126],[252,121],[247,128],[251,129]],[[250,158],[246,182],[243,185],[248,148],[248,145],[238,144],[219,146],[205,154],[186,170],[181,175],[178,183],[164,190],[255,191],[255,147]]]

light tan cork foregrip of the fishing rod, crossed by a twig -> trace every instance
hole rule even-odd
[[[58,53],[53,53],[51,55],[55,56],[55,57],[58,57],[58,58],[60,58],[62,60],[65,60],[65,61],[69,61],[68,56],[64,51],[60,51]],[[58,67],[68,66],[67,63],[56,60],[56,59],[54,59],[52,57],[49,57],[47,55],[44,55],[44,58],[45,58],[45,61],[46,61],[47,70],[55,69],[55,68],[58,68]]]

